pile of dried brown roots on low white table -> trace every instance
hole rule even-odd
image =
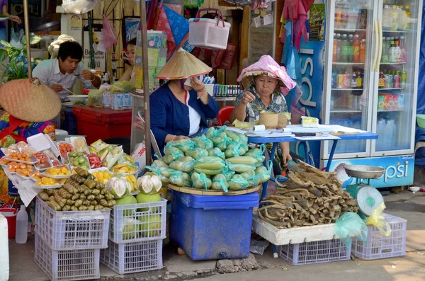
[[[276,193],[263,198],[259,217],[280,229],[330,224],[344,212],[357,212],[357,200],[341,188],[335,173],[298,164]],[[277,182],[276,182],[277,183]]]

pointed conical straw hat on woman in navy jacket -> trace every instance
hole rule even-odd
[[[207,64],[204,64],[194,55],[183,49],[177,51],[159,71],[156,79],[188,79],[209,73],[212,70]]]

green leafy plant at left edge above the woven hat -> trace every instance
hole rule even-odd
[[[33,35],[30,36],[30,45],[35,45],[42,40],[41,36]],[[28,64],[27,64],[27,51],[26,51],[26,40],[23,36],[21,38],[22,47],[13,47],[8,42],[0,40],[1,44],[4,45],[0,48],[0,62],[4,67],[4,74],[2,82],[25,79],[28,78]],[[31,67],[34,67],[42,59],[40,57],[31,59]]]

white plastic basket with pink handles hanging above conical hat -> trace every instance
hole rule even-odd
[[[200,18],[202,11],[215,11],[215,19]],[[189,44],[212,50],[226,50],[230,23],[226,23],[217,8],[201,8],[196,18],[189,20]]]

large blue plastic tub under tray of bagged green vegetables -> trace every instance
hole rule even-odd
[[[232,196],[173,193],[170,238],[192,260],[249,256],[252,209],[259,205],[259,193]]]

